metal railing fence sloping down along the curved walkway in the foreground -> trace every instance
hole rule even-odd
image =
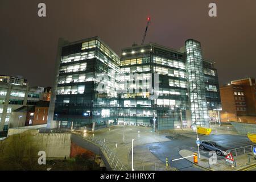
[[[93,135],[88,136],[87,134],[82,133],[75,133],[79,135],[80,137],[84,138],[85,140],[88,140],[89,142],[92,142],[96,144],[98,147],[100,147],[102,153],[104,154],[106,160],[108,160],[110,167],[115,171],[127,171],[127,168],[121,160],[115,156],[114,152],[106,145],[105,140],[94,137]]]

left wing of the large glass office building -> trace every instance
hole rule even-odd
[[[61,127],[97,127],[117,121],[119,57],[100,39],[90,38],[62,48],[53,119]],[[109,76],[101,80],[101,74]],[[105,93],[98,84],[105,82]]]

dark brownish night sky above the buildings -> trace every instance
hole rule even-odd
[[[46,3],[45,18],[38,3]],[[217,17],[208,5],[217,4]],[[1,0],[0,75],[23,76],[31,86],[51,86],[57,40],[92,36],[120,55],[121,48],[140,44],[151,16],[145,43],[179,49],[199,40],[205,59],[216,62],[220,84],[256,77],[255,0]]]

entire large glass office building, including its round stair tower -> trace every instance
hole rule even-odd
[[[199,42],[185,46],[133,46],[119,58],[97,37],[65,44],[53,120],[72,129],[152,126],[154,117],[159,130],[190,127],[190,120],[208,127],[209,110],[220,107],[217,71],[203,60]]]

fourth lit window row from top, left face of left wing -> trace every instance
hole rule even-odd
[[[74,82],[93,81],[93,73],[82,73],[75,75],[64,75],[59,77],[58,84],[69,84]]]

